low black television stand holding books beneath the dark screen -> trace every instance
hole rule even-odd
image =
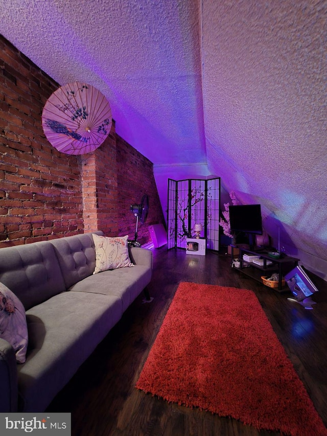
[[[283,291],[282,286],[282,280],[283,280],[283,273],[286,274],[287,272],[290,272],[295,266],[297,266],[299,259],[293,258],[291,256],[286,256],[283,254],[283,257],[280,257],[278,259],[272,258],[268,255],[268,251],[271,250],[264,250],[261,249],[258,250],[251,250],[249,248],[242,247],[242,244],[240,245],[231,245],[231,262],[233,261],[233,249],[238,248],[240,250],[240,267],[236,268],[243,274],[246,274],[246,276],[252,277],[252,279],[257,280],[258,282],[262,283],[261,276],[266,275],[269,276],[273,272],[278,272],[278,289],[277,288],[271,288],[274,290]],[[264,252],[265,251],[265,252]],[[263,265],[256,265],[253,262],[246,262],[243,259],[244,254],[251,254],[254,256],[260,256],[264,262]],[[267,261],[271,261],[271,265],[267,265]],[[249,267],[244,267],[244,265],[248,265]],[[289,290],[287,287],[285,290]]]

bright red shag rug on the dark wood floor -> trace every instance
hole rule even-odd
[[[246,289],[181,283],[136,387],[259,430],[327,434],[258,299]]]

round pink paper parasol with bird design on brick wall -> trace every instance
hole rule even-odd
[[[67,83],[46,101],[42,127],[58,151],[85,154],[104,142],[112,124],[111,108],[98,89],[83,82]]]

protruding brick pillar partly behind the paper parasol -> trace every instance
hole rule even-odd
[[[79,156],[84,232],[102,230],[118,235],[118,188],[114,121],[105,142],[93,153]]]

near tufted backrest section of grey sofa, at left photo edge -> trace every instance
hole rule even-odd
[[[0,282],[25,310],[65,290],[53,245],[49,241],[0,249]]]

